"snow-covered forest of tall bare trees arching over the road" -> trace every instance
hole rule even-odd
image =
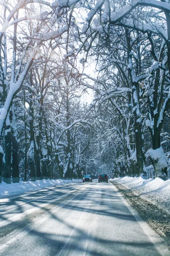
[[[151,164],[166,180],[169,0],[0,6],[0,183],[134,177]]]

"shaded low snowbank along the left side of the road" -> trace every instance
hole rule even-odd
[[[51,186],[61,186],[68,183],[82,183],[82,179],[79,180],[37,180],[34,182],[26,181],[20,183],[7,184],[5,182],[0,183],[0,198],[8,197],[11,195],[22,194],[24,192],[33,191],[37,189],[44,189]]]

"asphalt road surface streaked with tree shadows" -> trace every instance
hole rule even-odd
[[[66,184],[0,199],[0,256],[56,255],[170,251],[111,183]]]

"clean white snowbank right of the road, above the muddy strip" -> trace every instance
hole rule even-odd
[[[160,209],[164,209],[170,213],[170,180],[162,180],[161,178],[145,180],[142,177],[123,177],[110,179],[111,182],[120,183],[134,194],[156,205]]]

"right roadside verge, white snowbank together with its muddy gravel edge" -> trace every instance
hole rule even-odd
[[[142,177],[110,179],[141,218],[158,233],[170,250],[170,180]]]

